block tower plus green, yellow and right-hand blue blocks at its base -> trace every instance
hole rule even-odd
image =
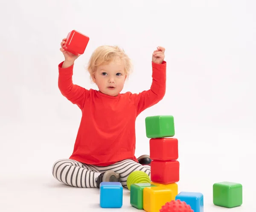
[[[149,116],[145,119],[146,136],[150,138],[151,183],[131,185],[131,205],[147,212],[159,212],[172,201],[184,201],[194,212],[204,211],[203,195],[198,192],[180,192],[178,140],[173,116]]]

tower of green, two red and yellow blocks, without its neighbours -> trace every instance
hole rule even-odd
[[[180,179],[180,163],[177,161],[178,140],[173,137],[175,135],[173,116],[148,116],[145,119],[145,127],[146,136],[150,138],[151,184],[157,188],[144,189],[144,210],[153,212],[159,211],[159,207],[167,201],[175,200],[178,194],[177,182]],[[151,203],[148,203],[149,198]],[[155,205],[152,204],[152,200],[155,201]]]

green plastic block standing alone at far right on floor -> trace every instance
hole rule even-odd
[[[242,185],[240,183],[221,182],[213,184],[213,204],[226,208],[241,206]]]

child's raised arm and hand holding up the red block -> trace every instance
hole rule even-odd
[[[58,88],[60,89],[63,96],[65,96],[70,102],[79,106],[80,109],[84,106],[84,100],[89,95],[83,87],[73,84],[73,67],[75,60],[79,57],[65,51],[62,47],[65,43],[66,38],[61,42],[61,52],[65,57],[65,61],[58,65]]]

